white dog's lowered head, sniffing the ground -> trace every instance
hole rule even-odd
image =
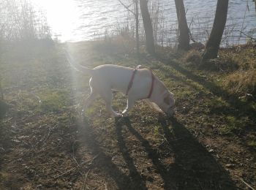
[[[173,116],[175,107],[174,94],[170,91],[165,91],[162,100],[162,104],[159,104],[161,110],[163,110],[167,116]]]

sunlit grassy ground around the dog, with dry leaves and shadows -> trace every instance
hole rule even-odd
[[[152,69],[176,96],[175,118],[159,118],[141,101],[115,121],[102,99],[80,118],[76,105],[89,93],[89,76],[70,68],[64,48],[89,67]],[[160,54],[138,61],[132,49],[111,41],[4,51],[0,71],[9,112],[0,121],[0,189],[255,187],[255,101],[225,83],[238,68],[202,70],[185,63],[183,53]],[[125,103],[125,96],[114,95],[114,110]]]

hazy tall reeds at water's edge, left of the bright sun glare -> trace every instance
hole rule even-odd
[[[1,0],[1,42],[51,39],[44,12],[34,9],[30,1]]]

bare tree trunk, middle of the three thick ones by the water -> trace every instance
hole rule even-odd
[[[187,26],[186,12],[183,0],[175,0],[178,18],[178,49],[189,49],[189,28]]]

